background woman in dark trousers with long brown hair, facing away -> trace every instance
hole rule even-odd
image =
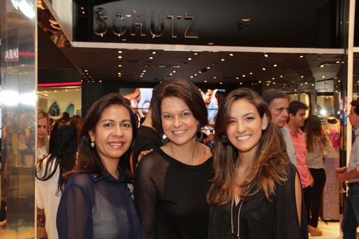
[[[325,169],[323,154],[330,151],[332,142],[321,125],[321,118],[309,116],[305,123],[305,140],[307,144],[306,162],[314,178],[312,194],[310,196],[307,211],[308,231],[312,236],[322,236],[323,232],[318,229],[319,210],[321,208],[321,196],[325,185]],[[311,217],[312,215],[312,217]]]

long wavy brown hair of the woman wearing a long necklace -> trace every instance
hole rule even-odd
[[[235,162],[240,160],[240,155],[226,135],[229,122],[230,105],[236,100],[245,99],[256,106],[261,118],[264,114],[268,117],[268,126],[262,130],[261,139],[258,141],[257,151],[254,155],[253,165],[249,176],[240,185],[250,190],[242,190],[241,196],[251,196],[263,190],[266,198],[274,195],[275,182],[286,181],[286,164],[289,162],[286,155],[284,139],[279,129],[272,123],[272,116],[268,105],[261,96],[249,88],[238,88],[226,95],[224,102],[219,106],[214,130],[214,178],[212,186],[207,194],[207,201],[214,204],[224,204],[232,199],[235,191]]]

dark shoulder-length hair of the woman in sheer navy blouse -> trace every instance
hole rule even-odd
[[[107,95],[103,95],[103,97],[96,100],[96,102],[94,102],[94,104],[92,104],[89,108],[89,111],[87,111],[82,128],[80,130],[80,135],[78,137],[78,162],[72,171],[64,175],[66,179],[69,178],[73,173],[93,173],[101,175],[107,172],[100,155],[98,155],[96,147],[92,148],[90,146],[91,139],[89,137],[89,132],[95,132],[96,125],[100,120],[103,111],[112,105],[122,105],[126,107],[130,114],[133,135],[132,142],[129,150],[127,150],[126,153],[121,156],[121,160],[119,160],[119,167],[122,168],[127,180],[133,180],[134,176],[131,169],[130,160],[132,160],[131,153],[137,135],[137,126],[135,124],[135,117],[133,115],[132,109],[119,93],[109,93]]]

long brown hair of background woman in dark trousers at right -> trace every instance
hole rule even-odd
[[[305,123],[307,151],[313,152],[313,144],[320,144],[325,147],[325,136],[321,128],[321,118],[310,115]]]

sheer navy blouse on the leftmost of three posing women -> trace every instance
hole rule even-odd
[[[73,174],[57,210],[59,238],[140,238],[140,219],[124,174]]]

